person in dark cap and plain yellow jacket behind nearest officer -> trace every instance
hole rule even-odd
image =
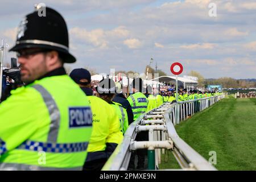
[[[118,115],[108,102],[93,96],[90,84],[91,77],[88,70],[83,68],[73,69],[70,77],[79,84],[88,97],[93,114],[92,137],[89,141],[88,155],[83,169],[84,171],[100,171],[117,144],[122,141]],[[114,127],[114,130],[110,127]],[[113,130],[113,132],[110,133],[110,130]]]

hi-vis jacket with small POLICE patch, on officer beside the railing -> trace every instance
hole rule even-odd
[[[127,101],[129,101],[131,105],[131,109],[133,110],[133,119],[134,121],[139,118],[139,116],[147,111],[148,100],[147,97],[144,96],[141,92],[136,92],[131,94]]]

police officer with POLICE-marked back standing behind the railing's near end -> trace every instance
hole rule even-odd
[[[143,82],[141,78],[135,78],[131,82],[131,86],[133,94],[131,94],[127,100],[130,102],[131,109],[133,109],[133,115],[134,115],[134,121],[138,119],[141,114],[146,113],[147,111],[147,97],[144,96],[142,93],[142,88],[143,88]],[[143,141],[147,140],[148,138],[148,133],[147,132],[141,132],[137,134],[137,141]],[[137,169],[144,169],[144,160],[145,156],[147,155],[147,150],[142,149],[137,151],[138,154],[138,164],[137,164]],[[130,159],[130,164],[129,164],[129,169],[134,169],[135,168],[135,155],[134,153],[131,155]]]

